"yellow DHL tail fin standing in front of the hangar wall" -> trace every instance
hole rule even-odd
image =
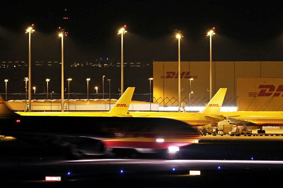
[[[227,88],[220,88],[217,93],[212,97],[209,103],[205,106],[204,110],[200,113],[216,114],[219,115],[220,108],[223,104]]]

